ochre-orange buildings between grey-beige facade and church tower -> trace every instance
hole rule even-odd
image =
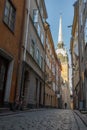
[[[54,42],[48,23],[45,23],[45,29],[45,106],[58,108],[59,102],[57,94],[60,86],[61,64],[55,53]]]

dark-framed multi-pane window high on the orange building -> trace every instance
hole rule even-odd
[[[4,11],[4,22],[14,31],[16,10],[9,0],[6,0]]]

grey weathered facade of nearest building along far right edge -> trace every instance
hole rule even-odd
[[[81,14],[81,15],[80,15]],[[80,109],[87,110],[87,0],[79,1]]]

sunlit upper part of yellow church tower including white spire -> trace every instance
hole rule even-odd
[[[59,22],[58,44],[57,44],[56,54],[58,58],[60,59],[61,65],[62,65],[61,76],[64,82],[65,81],[68,82],[69,81],[68,54],[64,48],[61,16],[60,16],[60,22]]]

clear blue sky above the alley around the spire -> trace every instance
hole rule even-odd
[[[71,28],[68,28],[68,26],[73,23],[74,2],[75,0],[45,0],[48,14],[47,22],[50,25],[55,48],[58,43],[59,18],[60,14],[62,14],[63,41],[68,53],[71,38]]]

